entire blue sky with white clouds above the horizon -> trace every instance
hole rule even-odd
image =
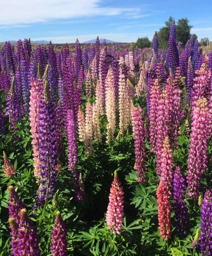
[[[212,41],[211,10],[211,0],[1,0],[0,41],[151,40],[170,16],[188,18],[198,40]]]

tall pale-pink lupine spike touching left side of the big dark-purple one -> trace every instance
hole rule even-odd
[[[38,179],[41,178],[41,169],[39,168],[39,134],[38,134],[38,113],[39,113],[39,99],[41,93],[44,90],[44,84],[42,81],[37,81],[32,78],[31,90],[30,90],[30,101],[29,101],[29,126],[31,127],[31,138],[32,138],[32,156],[34,160],[34,175]]]

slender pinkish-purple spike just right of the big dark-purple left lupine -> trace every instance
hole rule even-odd
[[[77,134],[74,121],[74,111],[67,111],[67,139],[68,139],[68,170],[75,173],[77,170]]]

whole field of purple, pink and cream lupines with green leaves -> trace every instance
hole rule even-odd
[[[0,50],[0,256],[212,255],[212,52]]]

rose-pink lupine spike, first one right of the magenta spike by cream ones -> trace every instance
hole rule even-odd
[[[157,111],[159,99],[162,93],[161,84],[158,79],[155,79],[150,91],[150,145],[151,151],[156,153],[156,127],[157,127]]]

